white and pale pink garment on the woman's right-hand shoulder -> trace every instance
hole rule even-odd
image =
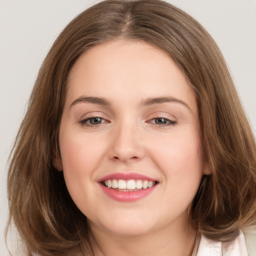
[[[196,256],[256,256],[256,230],[240,231],[232,241],[215,241],[201,236]]]

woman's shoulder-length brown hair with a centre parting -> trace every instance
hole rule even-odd
[[[231,240],[256,224],[256,148],[226,63],[205,29],[160,0],[106,0],[83,11],[60,33],[39,70],[8,172],[9,223],[29,253],[92,255],[86,217],[52,164],[68,72],[82,52],[113,39],[143,40],[163,49],[185,73],[199,109],[211,175],[190,207],[198,232]]]

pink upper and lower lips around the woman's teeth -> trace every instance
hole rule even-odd
[[[143,197],[149,195],[157,186],[157,184],[155,184],[152,187],[149,187],[146,189],[141,188],[134,191],[119,191],[114,188],[106,187],[101,183],[104,180],[114,179],[114,178],[124,179],[124,180],[129,180],[129,179],[146,179],[146,180],[152,180],[152,181],[156,181],[156,180],[135,172],[129,172],[129,173],[117,172],[117,173],[112,173],[100,178],[97,182],[99,183],[103,192],[110,198],[116,201],[121,201],[121,202],[132,202],[132,201],[142,199]]]

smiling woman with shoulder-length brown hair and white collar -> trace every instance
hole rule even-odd
[[[255,165],[205,29],[163,1],[103,1],[40,69],[9,166],[10,219],[30,254],[247,255]]]

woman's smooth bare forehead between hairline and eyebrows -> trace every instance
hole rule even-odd
[[[194,91],[176,62],[143,41],[116,40],[85,51],[69,73],[67,101],[83,94],[110,101],[116,95],[173,96],[196,108]]]

